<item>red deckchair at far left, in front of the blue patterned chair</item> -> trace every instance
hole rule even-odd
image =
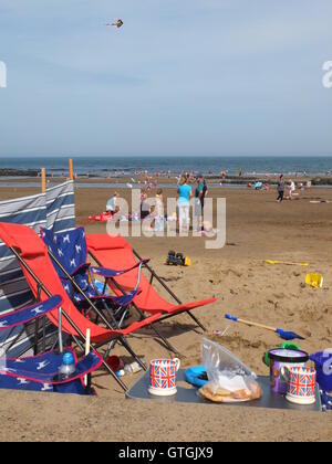
[[[97,347],[117,339],[141,362],[124,337],[158,320],[160,312],[139,323],[135,321],[124,329],[114,330],[110,325],[107,328],[100,327],[85,318],[74,306],[52,265],[45,244],[32,229],[25,225],[0,223],[0,239],[19,260],[28,284],[39,300],[44,302],[52,295],[60,295],[62,297],[62,314],[64,318],[62,330],[64,333],[73,336],[79,342],[79,338],[85,340],[85,334],[90,329],[91,342]],[[59,327],[58,316],[58,312],[48,314],[48,318],[56,327]],[[121,387],[126,390],[125,384],[116,377],[106,361],[104,361],[104,366]]]

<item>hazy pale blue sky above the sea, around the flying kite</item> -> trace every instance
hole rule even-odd
[[[0,156],[332,155],[331,18],[331,0],[0,0]]]

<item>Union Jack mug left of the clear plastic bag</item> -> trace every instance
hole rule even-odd
[[[154,359],[149,365],[149,388],[151,394],[167,397],[175,394],[176,376],[180,367],[180,360],[174,359]]]

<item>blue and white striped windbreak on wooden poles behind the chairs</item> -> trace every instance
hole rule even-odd
[[[37,196],[0,202],[0,222],[64,231],[75,228],[74,182],[65,182]],[[0,240],[0,315],[29,306],[34,297],[21,267]],[[40,329],[40,334],[43,328]],[[0,355],[18,357],[34,344],[34,326],[17,327],[0,334]]]

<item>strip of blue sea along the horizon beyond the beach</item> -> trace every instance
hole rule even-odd
[[[0,158],[1,168],[37,169],[45,167],[54,176],[68,175],[68,158]],[[228,171],[238,175],[239,167],[246,175],[263,173],[308,173],[332,175],[332,157],[77,157],[74,170],[80,176],[107,177],[114,175],[135,175],[147,170],[149,173],[201,171],[204,175]]]

